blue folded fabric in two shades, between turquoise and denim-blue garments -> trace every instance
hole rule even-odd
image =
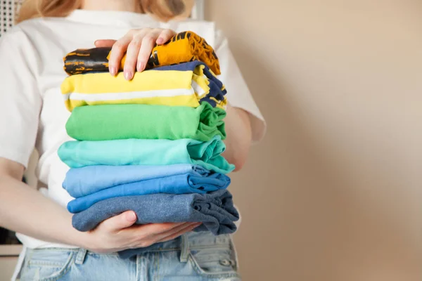
[[[113,197],[155,193],[206,193],[225,189],[230,178],[200,166],[87,166],[70,169],[63,187],[77,199],[68,204],[71,213],[88,209]],[[166,169],[167,167],[167,169]]]

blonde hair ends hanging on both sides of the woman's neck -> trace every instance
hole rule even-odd
[[[148,13],[159,20],[168,21],[178,16],[188,16],[193,7],[192,0],[137,0],[141,13]],[[81,8],[82,0],[25,0],[20,7],[16,22],[31,18],[65,17]]]

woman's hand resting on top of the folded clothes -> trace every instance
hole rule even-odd
[[[108,67],[110,74],[115,76],[119,72],[120,62],[126,53],[124,63],[124,78],[132,80],[135,71],[145,70],[151,51],[155,44],[162,45],[176,35],[173,30],[163,30],[161,28],[141,28],[139,30],[129,30],[124,37],[119,40],[97,40],[95,46],[112,47]]]

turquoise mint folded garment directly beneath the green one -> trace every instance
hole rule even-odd
[[[96,105],[94,105],[96,106]],[[197,164],[210,171],[227,174],[234,165],[222,157],[226,145],[220,136],[201,142],[192,139],[68,141],[58,156],[70,168],[93,165],[172,165]]]

